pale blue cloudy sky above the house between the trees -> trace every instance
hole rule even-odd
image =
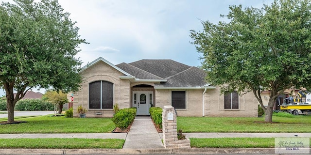
[[[3,0],[12,1],[12,0]],[[35,0],[38,1],[38,0]],[[200,54],[191,45],[190,30],[201,21],[226,21],[220,15],[229,5],[261,8],[272,0],[59,0],[80,28],[77,55],[83,66],[98,57],[113,64],[141,59],[172,59],[200,66]],[[40,91],[44,93],[44,90]],[[4,93],[0,90],[0,96]]]

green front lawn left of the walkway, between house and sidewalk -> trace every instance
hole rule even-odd
[[[110,133],[115,128],[111,118],[81,119],[48,115],[15,120],[27,121],[27,123],[1,125],[0,133]]]

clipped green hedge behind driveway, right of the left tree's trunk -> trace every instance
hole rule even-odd
[[[41,99],[24,99],[17,101],[15,110],[18,111],[45,111],[54,110],[54,105]]]

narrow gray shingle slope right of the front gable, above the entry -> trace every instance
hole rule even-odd
[[[116,66],[119,67],[120,69],[122,69],[123,71],[131,74],[132,76],[135,76],[135,78],[139,78],[139,79],[163,79],[163,78],[155,76],[155,75],[153,75],[147,71],[144,71],[142,69],[139,69],[135,66],[132,66],[132,65],[124,63],[124,62],[117,64]]]

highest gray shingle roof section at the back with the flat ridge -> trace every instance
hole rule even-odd
[[[168,78],[190,68],[190,66],[186,64],[175,62],[173,60],[143,59],[129,64],[160,78]]]

